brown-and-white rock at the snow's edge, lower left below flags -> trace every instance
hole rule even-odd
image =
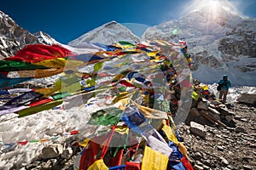
[[[62,154],[62,152],[63,146],[61,144],[52,144],[43,148],[41,157],[43,159],[54,158]]]

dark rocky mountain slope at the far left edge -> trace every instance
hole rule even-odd
[[[40,43],[29,31],[0,11],[0,59],[15,55],[26,44]]]

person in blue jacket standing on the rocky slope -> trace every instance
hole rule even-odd
[[[218,99],[222,101],[224,104],[227,99],[227,94],[229,92],[229,88],[231,87],[231,82],[228,80],[228,76],[224,75],[223,79],[218,82],[221,85],[221,90],[219,92]]]

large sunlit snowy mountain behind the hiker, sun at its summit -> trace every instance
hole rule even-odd
[[[201,5],[180,20],[150,27],[144,32],[143,40],[177,42],[183,38],[194,62],[195,78],[212,83],[218,82],[219,77],[214,75],[228,74],[233,84],[254,86],[255,18],[244,18],[229,6],[213,9]]]

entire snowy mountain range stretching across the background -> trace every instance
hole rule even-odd
[[[244,18],[226,8],[218,10],[217,16],[212,16],[206,8],[192,11],[180,20],[149,27],[142,37],[111,21],[68,42],[65,47],[84,48],[88,42],[184,39],[193,59],[192,74],[201,82],[218,82],[223,74],[228,74],[233,84],[256,86],[256,19]],[[42,31],[32,34],[20,28],[1,11],[0,24],[0,59],[14,55],[26,44],[61,44]]]

